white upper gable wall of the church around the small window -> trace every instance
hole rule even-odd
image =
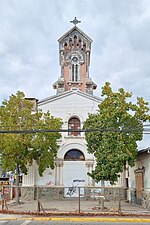
[[[98,104],[101,101],[92,98],[87,98],[84,94],[80,95],[76,90],[72,91],[71,94],[63,96],[55,96],[54,99],[47,100],[45,103],[39,103],[38,108],[42,109],[43,112],[49,112],[51,115],[61,118],[63,120],[62,129],[68,129],[68,120],[71,116],[77,116],[81,122],[81,128],[83,122],[88,117],[88,113],[96,112]],[[62,133],[62,137],[67,137],[68,133]],[[84,133],[81,133],[84,137]],[[82,140],[81,142],[84,142]]]

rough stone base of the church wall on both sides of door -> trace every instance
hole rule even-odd
[[[63,200],[65,197],[65,188],[58,186],[40,186],[40,187],[21,187],[22,200]],[[127,190],[120,188],[104,188],[98,187],[84,187],[84,194],[81,196],[86,200],[99,199],[104,196],[105,201],[126,201]],[[69,196],[68,196],[69,197]],[[78,197],[78,196],[77,196]],[[150,198],[150,196],[149,196]]]

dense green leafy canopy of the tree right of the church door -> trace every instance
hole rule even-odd
[[[148,103],[137,98],[134,104],[132,94],[123,88],[113,92],[110,83],[102,87],[104,100],[96,114],[89,114],[85,129],[99,129],[85,134],[89,153],[96,158],[96,167],[89,175],[96,181],[110,181],[114,184],[126,162],[134,165],[137,155],[137,141],[143,137],[143,122],[150,120]]]

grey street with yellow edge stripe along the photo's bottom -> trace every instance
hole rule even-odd
[[[150,224],[150,217],[29,217],[0,214],[0,225],[143,225]]]

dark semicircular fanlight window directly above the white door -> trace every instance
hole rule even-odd
[[[64,156],[65,161],[84,161],[84,154],[78,149],[71,149]]]

